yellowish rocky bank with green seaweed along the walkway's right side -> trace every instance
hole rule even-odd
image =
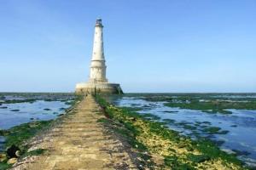
[[[207,139],[192,140],[134,111],[118,108],[97,96],[104,108],[102,122],[118,124],[116,133],[142,153],[144,167],[153,169],[247,169],[243,163]],[[143,155],[144,154],[144,155]]]

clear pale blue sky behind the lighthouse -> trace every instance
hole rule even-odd
[[[1,0],[0,91],[86,82],[97,17],[125,92],[256,92],[254,0]]]

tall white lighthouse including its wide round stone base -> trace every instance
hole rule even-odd
[[[77,94],[102,93],[123,94],[120,85],[108,83],[106,77],[106,60],[103,47],[102,20],[96,20],[92,57],[90,60],[90,78],[88,82],[80,82],[76,85]]]

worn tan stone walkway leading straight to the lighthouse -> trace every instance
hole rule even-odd
[[[84,98],[75,113],[64,118],[39,144],[49,152],[13,169],[137,169],[125,146],[97,122],[103,117],[96,114],[98,111],[93,97]]]

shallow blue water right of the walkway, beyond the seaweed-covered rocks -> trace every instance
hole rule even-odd
[[[174,122],[166,122],[171,129],[188,135],[192,139],[201,137],[212,139],[220,145],[221,149],[230,153],[239,152],[240,156],[238,157],[242,161],[253,166],[256,165],[256,111],[228,110],[232,111],[232,114],[210,114],[202,111],[168,107],[164,105],[165,102],[163,101],[147,101],[143,94],[135,97],[113,97],[110,98],[110,101],[114,105],[122,107],[141,108],[141,111],[137,111],[140,114],[150,113],[160,117],[160,119],[154,121],[174,120]],[[192,126],[193,129],[185,128],[183,123]],[[220,127],[220,131],[224,130],[228,133],[207,133],[204,131],[206,127]]]

